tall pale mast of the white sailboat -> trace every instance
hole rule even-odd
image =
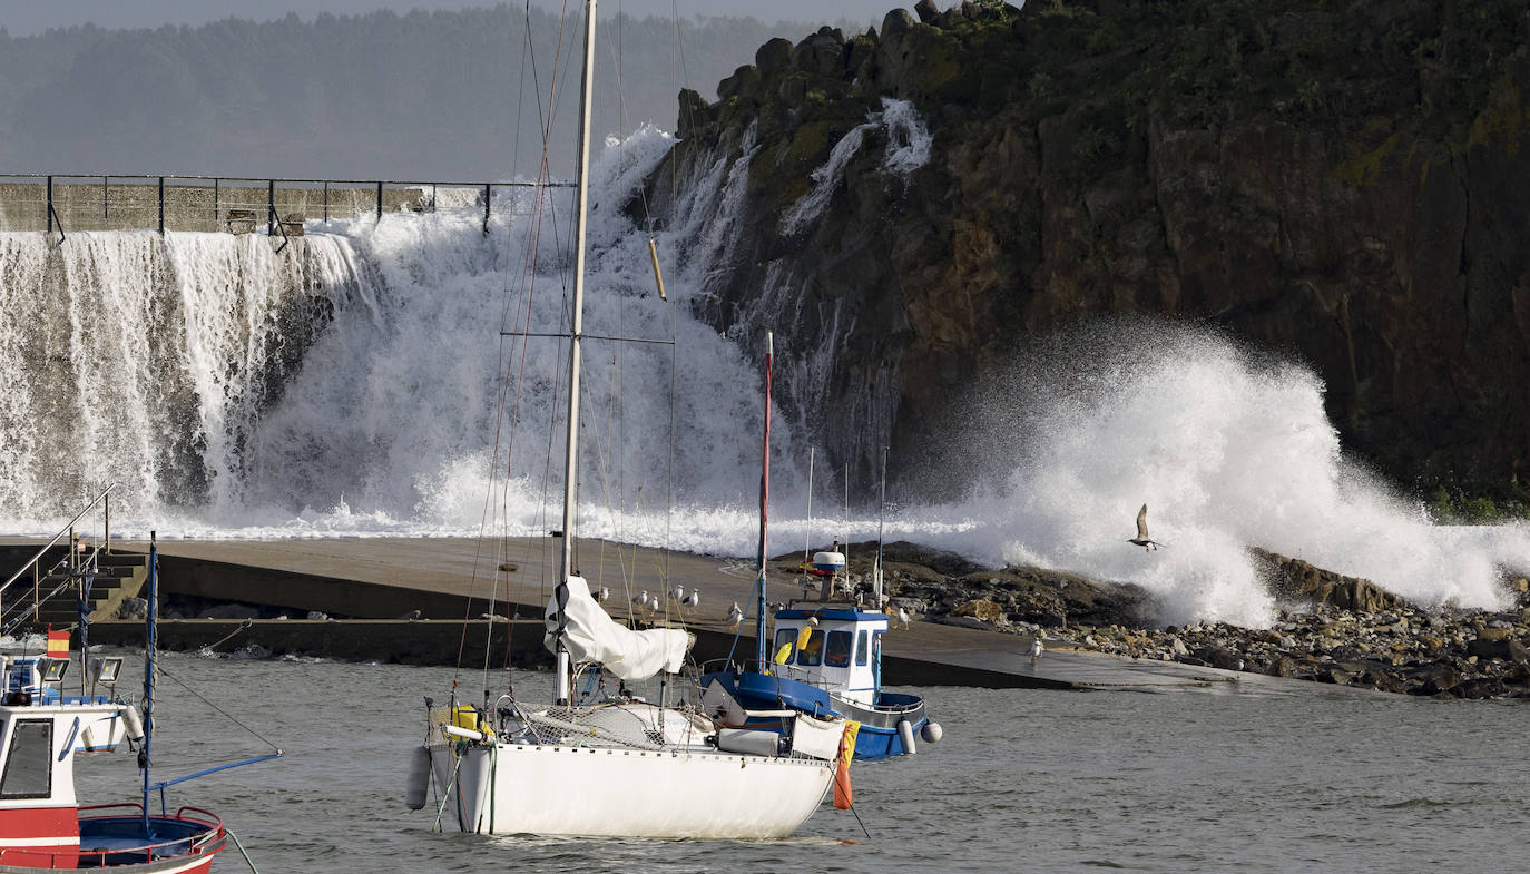
[[[569,413],[563,459],[563,559],[558,568],[558,609],[568,600],[574,572],[574,497],[578,484],[578,380],[584,331],[584,236],[589,213],[589,115],[595,90],[595,0],[584,3],[584,70],[580,80],[578,168],[574,184],[574,312],[569,324]],[[558,625],[562,626],[562,617]],[[558,701],[569,700],[568,651],[558,640]]]

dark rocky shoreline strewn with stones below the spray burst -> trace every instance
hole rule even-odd
[[[875,543],[852,545],[869,574]],[[1118,657],[1440,698],[1530,700],[1530,582],[1507,576],[1506,611],[1420,606],[1359,577],[1252,550],[1281,608],[1270,628],[1160,628],[1134,585],[1042,568],[985,569],[898,542],[884,548],[889,609],[918,620],[1037,635]]]

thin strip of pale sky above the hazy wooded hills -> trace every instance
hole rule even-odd
[[[506,0],[522,5],[523,0]],[[531,0],[534,6],[557,9],[562,0]],[[571,5],[578,0],[568,0]],[[890,9],[913,9],[916,0],[601,0],[600,14],[664,15],[753,15],[762,21],[864,20],[881,24]],[[378,9],[470,9],[494,6],[497,0],[0,0],[0,28],[12,37],[29,37],[49,28],[93,23],[98,28],[159,28],[162,24],[205,24],[222,18],[271,21],[289,12],[306,21],[320,12],[364,15]],[[941,8],[952,0],[939,3]]]

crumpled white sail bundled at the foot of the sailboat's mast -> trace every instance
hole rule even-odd
[[[659,670],[679,673],[692,643],[690,634],[678,628],[632,631],[617,623],[591,597],[584,577],[569,577],[563,615],[566,617],[563,646],[569,655],[575,661],[598,661],[623,680],[647,680]],[[548,600],[543,618],[548,634],[542,640],[548,649],[557,652],[557,592]]]

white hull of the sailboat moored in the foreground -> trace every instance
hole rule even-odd
[[[823,802],[834,764],[716,752],[433,744],[462,831],[589,837],[785,837]]]

